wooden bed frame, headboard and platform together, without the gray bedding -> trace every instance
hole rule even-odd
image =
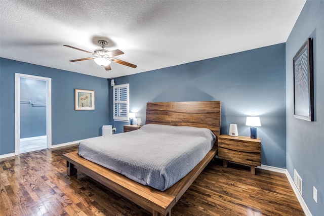
[[[217,138],[220,134],[220,107],[220,101],[147,103],[145,124],[208,128]],[[67,161],[67,175],[72,176],[77,170],[82,171],[152,212],[153,215],[171,215],[172,207],[214,158],[216,152],[217,139],[212,149],[184,178],[164,191],[142,185],[111,169],[91,162],[80,157],[78,152],[67,153],[63,157]]]

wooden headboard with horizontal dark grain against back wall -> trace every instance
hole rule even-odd
[[[221,102],[152,102],[146,105],[145,124],[167,124],[209,128],[220,135]]]

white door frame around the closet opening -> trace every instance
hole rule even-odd
[[[15,73],[15,155],[19,154],[20,148],[20,78],[30,78],[46,81],[46,136],[47,148],[52,148],[52,79],[42,76],[33,76]]]

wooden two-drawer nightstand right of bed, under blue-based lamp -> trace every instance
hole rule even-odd
[[[251,166],[251,173],[255,175],[255,167],[261,165],[261,140],[250,137],[232,137],[220,135],[218,137],[218,157],[223,159],[223,166],[228,161]]]

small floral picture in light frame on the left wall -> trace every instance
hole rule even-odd
[[[95,91],[75,89],[75,110],[94,110],[95,109]]]

